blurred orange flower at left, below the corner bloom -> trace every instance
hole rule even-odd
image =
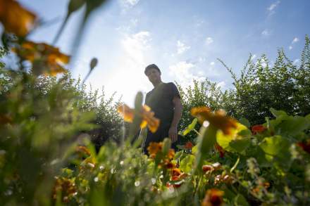
[[[67,72],[61,64],[69,63],[70,56],[61,53],[58,48],[49,44],[25,41],[13,51],[23,60],[29,60],[37,75],[57,75]]]

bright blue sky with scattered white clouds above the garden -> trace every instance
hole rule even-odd
[[[68,1],[20,2],[43,20],[56,18],[30,36],[51,43]],[[283,47],[297,63],[304,36],[310,34],[309,8],[308,0],[112,0],[92,15],[70,70],[73,77],[85,77],[89,61],[97,57],[99,65],[87,84],[104,86],[108,95],[117,91],[129,105],[137,91],[152,89],[144,76],[150,63],[159,65],[163,82],[188,86],[207,77],[227,89],[233,79],[216,58],[238,74],[249,53],[254,60],[266,53],[272,63]],[[56,45],[61,51],[70,51],[81,17],[82,10],[70,18]]]

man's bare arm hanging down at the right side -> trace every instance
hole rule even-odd
[[[172,142],[178,140],[178,124],[182,117],[182,103],[178,96],[173,97],[173,105],[174,105],[174,113],[173,113],[173,120],[171,122],[171,127],[169,129],[169,137],[171,138]]]

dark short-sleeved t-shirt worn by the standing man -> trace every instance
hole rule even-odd
[[[178,88],[173,82],[161,83],[147,93],[145,104],[155,113],[154,116],[161,120],[160,127],[171,126],[174,113],[173,98],[175,96],[180,98]]]

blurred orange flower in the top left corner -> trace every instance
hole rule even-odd
[[[35,13],[27,11],[14,0],[0,0],[0,22],[6,32],[25,37],[35,27]]]

